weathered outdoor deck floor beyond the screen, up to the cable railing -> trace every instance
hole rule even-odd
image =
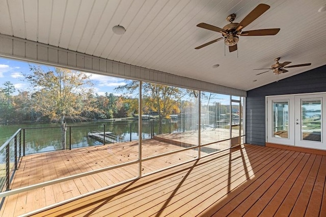
[[[138,141],[27,155],[22,158],[11,189],[101,169],[138,159]],[[143,157],[183,147],[157,140],[143,141]],[[143,174],[192,160],[195,149],[143,163]],[[17,216],[138,176],[138,164],[35,189],[6,198],[0,216]]]

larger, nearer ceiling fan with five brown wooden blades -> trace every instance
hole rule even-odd
[[[230,14],[226,19],[231,22],[223,27],[223,29],[210,25],[207,23],[199,23],[197,26],[206,30],[211,30],[214,32],[222,33],[223,37],[218,38],[215,40],[212,40],[210,42],[207,42],[205,44],[202,44],[195,49],[203,48],[207,45],[210,45],[216,41],[220,41],[224,39],[225,45],[229,47],[229,51],[233,52],[237,50],[237,43],[239,41],[239,36],[269,36],[269,35],[276,35],[280,29],[263,29],[263,30],[251,30],[251,31],[244,31],[241,32],[244,27],[249,25],[251,22],[253,22],[255,19],[257,19],[260,15],[262,15],[265,11],[267,11],[270,8],[269,5],[265,4],[259,4],[254,10],[252,10],[246,17],[242,19],[241,22],[236,23],[233,22],[236,15]]]

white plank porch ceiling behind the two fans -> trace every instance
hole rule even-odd
[[[198,28],[223,28],[235,13],[240,22],[258,4],[270,6],[243,31],[280,28],[275,36],[240,36],[238,52],[226,52],[222,37]],[[276,81],[274,59],[289,65],[279,79],[326,64],[324,0],[0,0],[0,34],[49,44],[96,57],[168,72],[241,90]],[[124,35],[112,28],[123,25]],[[212,68],[219,64],[220,67]],[[257,80],[256,82],[253,82]]]

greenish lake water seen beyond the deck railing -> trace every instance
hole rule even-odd
[[[79,122],[68,123],[66,132],[66,148],[100,145],[95,139],[88,137],[89,132],[104,131],[122,137],[125,141],[138,140],[138,120],[121,120],[115,122]],[[190,123],[181,123],[180,120],[163,120],[162,133],[189,130]],[[25,128],[25,154],[39,153],[63,149],[61,145],[61,128],[58,123],[48,124],[19,124],[0,126],[0,146],[4,144],[19,128]],[[149,139],[158,133],[157,120],[143,120],[142,138]],[[21,135],[23,137],[23,134]],[[22,141],[22,140],[21,140]]]

